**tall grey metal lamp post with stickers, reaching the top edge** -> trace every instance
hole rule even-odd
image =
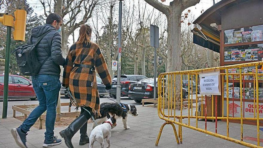
[[[120,102],[120,64],[121,64],[121,27],[122,27],[122,0],[119,2],[119,34],[118,34],[118,64],[117,64],[117,102]]]

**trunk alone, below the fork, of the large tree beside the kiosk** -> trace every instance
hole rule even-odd
[[[167,55],[167,72],[181,71],[181,14],[182,10],[172,5],[169,15],[167,15],[167,33],[168,33],[168,55]],[[171,29],[172,28],[172,29]],[[176,81],[176,102],[180,102],[181,78],[179,75]],[[179,81],[178,81],[179,80]],[[171,93],[170,93],[171,94]]]

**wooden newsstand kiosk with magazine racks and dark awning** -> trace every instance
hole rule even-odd
[[[221,0],[210,7],[194,22],[193,42],[220,53],[220,66],[261,61],[263,57],[263,1],[262,0]],[[241,69],[242,73],[255,73],[255,67]],[[220,71],[225,73],[226,71]],[[229,69],[228,73],[239,73],[239,69]],[[262,73],[261,67],[258,73]],[[243,117],[254,118],[254,78],[244,76],[244,112]],[[230,115],[240,117],[240,81],[237,76],[229,76],[229,111]],[[259,80],[259,118],[263,118],[263,79]],[[221,82],[226,77],[221,77]],[[226,83],[224,83],[226,86]],[[226,87],[224,96],[220,96],[218,116],[222,116],[222,99],[226,115]],[[234,98],[234,103],[232,103]],[[239,104],[239,105],[238,105]],[[262,106],[262,107],[261,107]],[[234,109],[233,109],[234,108]],[[234,112],[232,111],[234,110]],[[239,112],[238,112],[239,111]],[[231,120],[230,120],[231,122]],[[233,122],[240,122],[235,120]],[[256,121],[246,120],[244,124],[256,125]],[[260,121],[263,125],[263,121]]]

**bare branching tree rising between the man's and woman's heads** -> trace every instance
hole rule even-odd
[[[80,25],[85,24],[99,0],[39,0],[44,8],[44,14],[47,17],[49,13],[54,12],[62,16],[62,54],[65,57],[68,49],[68,37]],[[52,5],[54,6],[52,7]]]

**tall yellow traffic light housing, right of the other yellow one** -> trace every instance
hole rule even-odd
[[[25,41],[27,12],[25,10],[16,10],[15,19],[15,31],[13,31],[14,40]]]

